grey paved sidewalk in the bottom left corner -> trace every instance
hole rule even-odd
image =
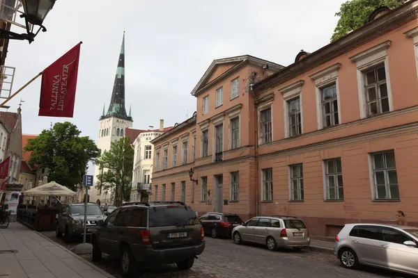
[[[0,229],[0,277],[112,278],[95,265],[17,222]]]

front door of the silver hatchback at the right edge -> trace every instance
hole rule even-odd
[[[405,241],[415,242],[410,236],[391,228],[382,227],[382,264],[394,270],[418,274],[418,247],[406,246]]]

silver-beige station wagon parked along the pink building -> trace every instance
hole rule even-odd
[[[301,219],[281,215],[251,218],[233,228],[232,238],[235,244],[259,243],[270,251],[277,250],[277,247],[302,250],[311,244],[308,228]]]

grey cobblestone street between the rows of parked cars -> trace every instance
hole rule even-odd
[[[71,249],[75,243],[63,243],[55,238],[54,231],[42,232],[48,238]],[[91,255],[83,255],[91,261]],[[120,275],[118,260],[104,256],[95,263],[117,278]],[[204,276],[203,276],[204,275]],[[147,268],[141,277],[407,277],[395,272],[364,268],[346,270],[341,267],[334,255],[305,250],[279,250],[270,252],[264,247],[235,245],[232,240],[206,238],[206,249],[189,271],[180,271],[176,265],[164,265],[161,268]]]

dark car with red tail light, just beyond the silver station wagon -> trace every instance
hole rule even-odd
[[[203,214],[199,221],[205,234],[210,234],[212,238],[218,236],[231,237],[233,227],[237,227],[244,222],[238,214],[213,212]]]

